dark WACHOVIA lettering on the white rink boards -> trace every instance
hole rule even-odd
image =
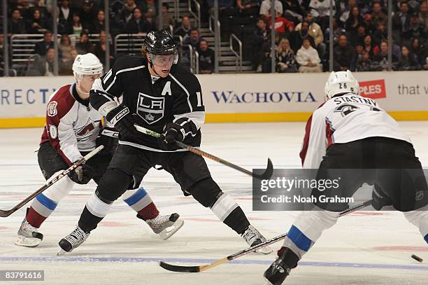
[[[311,92],[243,92],[235,91],[211,91],[217,104],[240,104],[240,103],[281,103],[281,102],[317,102]]]

